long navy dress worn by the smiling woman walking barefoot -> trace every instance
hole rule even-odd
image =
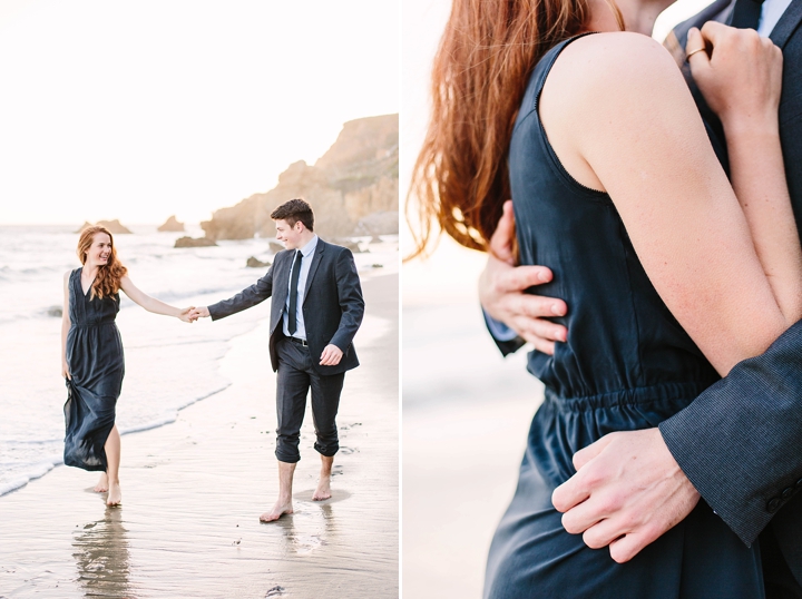
[[[123,389],[123,341],[115,324],[119,294],[91,297],[80,283],[81,269],[69,278],[70,330],[67,333],[65,403],[65,463],[84,470],[108,468],[104,445],[115,423],[117,397]]]

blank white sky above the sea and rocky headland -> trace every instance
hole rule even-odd
[[[2,0],[0,224],[197,223],[398,112],[397,0]]]

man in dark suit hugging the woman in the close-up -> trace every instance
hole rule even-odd
[[[783,51],[780,132],[802,236],[802,0],[718,0],[678,26],[666,46],[684,59],[689,28],[711,20],[759,28]],[[721,126],[689,84],[726,168]],[[488,326],[505,354],[525,340],[550,352],[565,330],[544,318],[570,306],[524,293],[551,273],[511,266],[512,226],[507,212],[491,244],[497,257],[482,273]],[[744,543],[760,539],[767,597],[802,597],[802,322],[659,429],[612,433],[577,452],[574,463],[577,474],[555,491],[554,502],[566,512],[566,529],[581,532],[588,546],[609,546],[616,561],[627,561],[701,497]]]

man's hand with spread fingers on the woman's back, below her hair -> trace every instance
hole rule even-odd
[[[490,317],[505,323],[540,352],[554,354],[554,342],[566,341],[568,331],[542,318],[563,316],[567,306],[563,300],[524,293],[548,283],[552,275],[545,266],[515,266],[514,239],[512,202],[507,200],[490,238],[488,263],[479,276],[479,301]]]

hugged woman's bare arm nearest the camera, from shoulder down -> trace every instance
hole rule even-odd
[[[774,271],[759,257],[757,232],[663,47],[637,33],[577,40],[551,70],[540,117],[566,169],[609,194],[649,279],[721,374],[761,354],[802,316],[799,302],[784,300],[802,295],[802,268],[783,272],[781,285],[770,282]],[[746,194],[775,188],[777,178],[784,185],[776,169],[753,170],[744,176],[764,184]],[[783,252],[801,252],[795,236],[783,244]]]

